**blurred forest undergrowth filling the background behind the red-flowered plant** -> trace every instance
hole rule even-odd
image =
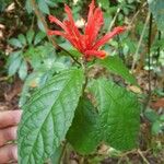
[[[47,16],[52,14],[63,20],[65,3],[71,7],[77,25],[82,31],[89,10],[89,0],[1,0],[0,2],[0,82],[5,81],[12,84],[17,79],[22,81],[19,93],[20,107],[33,91],[44,85],[55,73],[73,65],[66,51],[54,47],[45,33],[43,20],[36,15],[37,8],[49,28],[58,28],[50,26]],[[110,56],[118,56],[136,75],[140,87],[127,87],[133,92],[140,92],[142,97],[148,97],[147,103],[142,102],[147,107],[141,116],[140,149],[143,153],[139,152],[139,156],[141,155],[139,162],[151,163],[152,160],[154,163],[162,164],[164,162],[162,161],[164,155],[162,151],[164,142],[164,1],[97,0],[96,3],[103,9],[105,20],[99,35],[117,25],[126,25],[129,28],[125,34],[106,44],[104,49]],[[55,37],[55,39],[74,57],[79,55],[61,37]],[[122,84],[118,77],[113,73],[110,77]],[[103,149],[99,148],[101,151]],[[96,152],[95,155],[79,156],[79,159],[93,164],[99,161],[134,163],[131,155],[138,156],[136,152],[121,154],[107,148],[103,153]],[[73,153],[72,156],[75,159],[78,154]]]

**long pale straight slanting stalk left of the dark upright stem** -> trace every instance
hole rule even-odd
[[[143,30],[142,30],[142,33],[141,33],[141,37],[139,39],[139,44],[138,44],[136,54],[133,56],[133,61],[132,61],[132,66],[131,66],[131,72],[133,72],[133,70],[134,70],[136,62],[137,62],[138,55],[139,55],[139,50],[140,50],[140,47],[141,47],[141,44],[142,44],[142,40],[143,40],[143,36],[144,36],[144,33],[145,33],[149,20],[150,20],[150,13],[148,13],[148,15],[147,15],[145,23],[144,23],[144,26],[143,26]]]

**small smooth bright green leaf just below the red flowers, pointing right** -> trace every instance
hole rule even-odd
[[[127,82],[137,85],[137,81],[134,77],[129,72],[127,67],[124,65],[121,59],[117,56],[110,56],[106,59],[98,60],[98,63],[112,71],[113,73],[116,73],[124,78]]]

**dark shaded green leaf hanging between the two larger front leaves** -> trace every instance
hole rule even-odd
[[[81,154],[93,152],[99,143],[97,134],[98,114],[89,99],[80,101],[67,139]]]

